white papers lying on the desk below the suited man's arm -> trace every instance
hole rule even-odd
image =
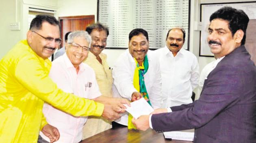
[[[194,129],[164,132],[165,139],[175,139],[182,141],[193,141]]]

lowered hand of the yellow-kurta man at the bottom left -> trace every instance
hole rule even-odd
[[[60,138],[59,130],[54,126],[51,126],[50,124],[46,124],[45,126],[43,126],[42,132],[50,139],[51,143],[53,143],[54,141],[58,141],[58,139]]]

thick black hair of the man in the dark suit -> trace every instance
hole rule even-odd
[[[215,11],[215,13],[210,16],[210,22],[213,19],[223,19],[228,21],[228,28],[230,29],[232,36],[234,36],[237,30],[243,30],[244,36],[241,41],[241,45],[245,44],[246,29],[249,22],[249,17],[244,11],[237,10],[230,6],[225,6]]]

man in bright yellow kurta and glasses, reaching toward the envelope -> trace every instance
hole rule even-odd
[[[120,108],[64,93],[49,78],[48,57],[61,43],[59,35],[54,17],[38,15],[31,22],[27,40],[18,42],[0,61],[1,143],[37,143],[39,130],[56,141],[58,131],[44,130],[44,102],[74,116],[120,117]]]

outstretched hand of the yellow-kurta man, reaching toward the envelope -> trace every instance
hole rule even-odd
[[[102,117],[106,118],[107,120],[114,121],[119,119],[121,116],[116,112],[120,111],[119,107],[113,107],[109,104],[104,104],[104,110],[102,113]]]

